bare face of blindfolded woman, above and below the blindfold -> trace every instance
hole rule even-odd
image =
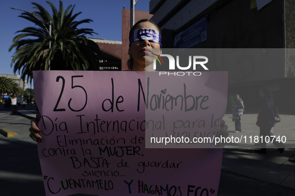
[[[153,29],[159,31],[159,29],[151,22],[141,22],[137,24],[136,29]],[[140,40],[131,43],[128,52],[132,55],[134,59],[133,67],[145,68],[146,64],[152,64],[153,58],[148,55],[155,53],[160,54],[160,44],[153,42],[151,40]],[[147,56],[146,56],[147,55]]]

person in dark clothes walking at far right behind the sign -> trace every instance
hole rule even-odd
[[[259,118],[256,124],[260,127],[260,136],[262,137],[261,141],[261,150],[256,150],[258,153],[266,154],[267,143],[266,136],[270,138],[274,137],[273,144],[278,147],[280,153],[283,153],[285,150],[285,144],[279,142],[277,137],[274,136],[273,128],[276,124],[276,121],[279,120],[278,109],[274,103],[273,94],[265,87],[260,89],[259,92],[260,97],[262,97],[260,102],[260,112]]]

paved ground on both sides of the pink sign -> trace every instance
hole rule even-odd
[[[18,135],[0,135],[1,196],[45,196],[36,144],[28,137],[29,119],[38,112],[35,105],[18,107],[19,115],[0,105],[0,128],[9,128]],[[20,116],[22,115],[22,116]],[[295,142],[295,115],[280,114],[282,122],[275,126],[276,135],[285,135]],[[242,117],[242,133],[234,133],[231,114],[224,119],[230,136],[259,135],[255,125],[257,114]],[[230,144],[224,149],[218,196],[295,196],[295,149],[268,149],[255,153],[254,144]],[[271,147],[271,146],[270,146]]]

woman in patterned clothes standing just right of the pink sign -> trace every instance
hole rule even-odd
[[[244,110],[243,100],[239,94],[235,95],[235,102],[233,107],[233,122],[235,122],[236,131],[235,133],[241,133],[241,118]]]

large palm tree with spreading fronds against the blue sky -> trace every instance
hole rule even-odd
[[[52,17],[47,10],[38,3],[32,3],[37,11],[23,12],[19,17],[33,22],[37,27],[27,27],[17,31],[9,51],[16,48],[11,67],[14,64],[14,73],[21,72],[21,78],[32,79],[32,71],[48,70],[98,70],[98,45],[88,40],[85,35],[92,35],[93,29],[80,28],[82,23],[93,22],[91,19],[74,21],[81,12],[73,14],[75,7],[69,5],[63,10],[62,1],[59,1],[59,10],[46,1],[52,8]],[[49,35],[49,24],[52,32]],[[97,34],[97,33],[95,33]],[[31,38],[33,37],[33,38]],[[49,42],[51,48],[49,49]]]

